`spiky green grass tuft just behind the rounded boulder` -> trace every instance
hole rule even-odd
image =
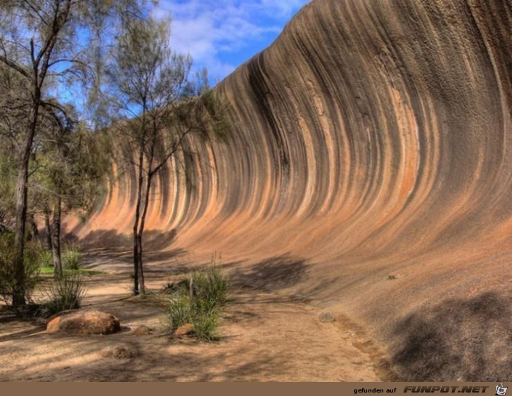
[[[82,277],[68,275],[54,280],[45,290],[48,301],[43,304],[45,315],[51,316],[65,310],[80,308],[85,297]]]

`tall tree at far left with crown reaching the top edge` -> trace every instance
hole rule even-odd
[[[117,21],[141,15],[136,0],[0,0],[0,63],[26,80],[30,98],[24,106],[18,174],[15,182],[15,286],[13,306],[25,304],[24,264],[27,185],[41,112],[65,114],[58,84],[71,89],[91,81],[101,62],[101,38]],[[109,32],[110,29],[110,32]]]

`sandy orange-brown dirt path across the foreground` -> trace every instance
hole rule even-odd
[[[158,289],[164,281],[154,278],[150,286]],[[224,315],[222,341],[170,340],[160,331],[161,303],[151,297],[126,298],[128,282],[125,275],[96,275],[87,281],[84,308],[117,315],[123,326],[120,334],[47,334],[33,322],[0,317],[0,381],[385,379],[360,334],[339,320],[320,322],[320,311],[306,303],[236,289]],[[142,324],[153,329],[151,334],[134,334]],[[102,350],[117,345],[139,356],[102,357]]]

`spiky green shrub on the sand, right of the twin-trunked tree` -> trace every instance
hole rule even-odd
[[[203,341],[219,338],[218,327],[227,301],[228,279],[217,266],[193,272],[193,297],[189,283],[181,282],[174,290],[165,311],[165,328],[174,332],[183,324],[192,324],[194,336]]]

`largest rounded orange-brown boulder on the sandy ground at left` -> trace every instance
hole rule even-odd
[[[71,311],[60,313],[46,324],[49,333],[113,334],[120,331],[119,319],[101,311]]]

